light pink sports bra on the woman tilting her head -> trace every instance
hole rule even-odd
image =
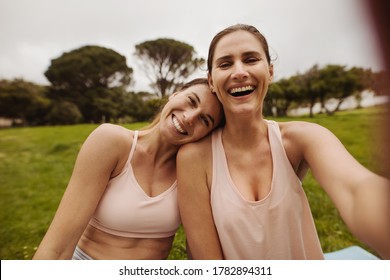
[[[176,181],[158,196],[148,196],[131,166],[138,139],[134,133],[129,158],[122,172],[108,182],[90,225],[104,232],[132,238],[165,238],[175,234],[181,221]]]

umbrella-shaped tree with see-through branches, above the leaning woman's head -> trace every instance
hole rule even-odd
[[[135,46],[134,55],[141,61],[142,70],[151,81],[156,94],[165,97],[204,63],[196,58],[194,48],[173,39],[146,41]]]

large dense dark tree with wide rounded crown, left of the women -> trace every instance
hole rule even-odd
[[[117,52],[84,46],[53,59],[45,76],[52,84],[53,99],[77,105],[84,121],[100,122],[116,117],[115,94],[131,84],[132,73]]]

